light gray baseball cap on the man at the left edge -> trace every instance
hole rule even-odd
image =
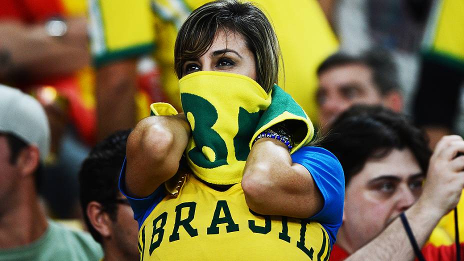
[[[40,150],[44,160],[50,150],[50,127],[45,111],[32,96],[0,84],[0,132],[16,135]]]

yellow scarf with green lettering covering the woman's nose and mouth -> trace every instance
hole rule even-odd
[[[270,105],[271,96],[247,76],[217,71],[188,74],[179,80],[179,90],[192,129],[185,150],[190,168],[209,183],[239,183],[246,157],[237,158],[237,143],[248,143],[259,112]],[[244,114],[250,116],[240,122]],[[243,127],[251,132],[243,133],[239,138],[244,140],[237,142],[239,128]]]

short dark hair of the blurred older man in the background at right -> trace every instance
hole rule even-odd
[[[317,75],[336,66],[362,64],[372,71],[372,81],[380,95],[399,91],[398,72],[391,54],[384,49],[370,49],[360,55],[336,52],[317,67]]]

